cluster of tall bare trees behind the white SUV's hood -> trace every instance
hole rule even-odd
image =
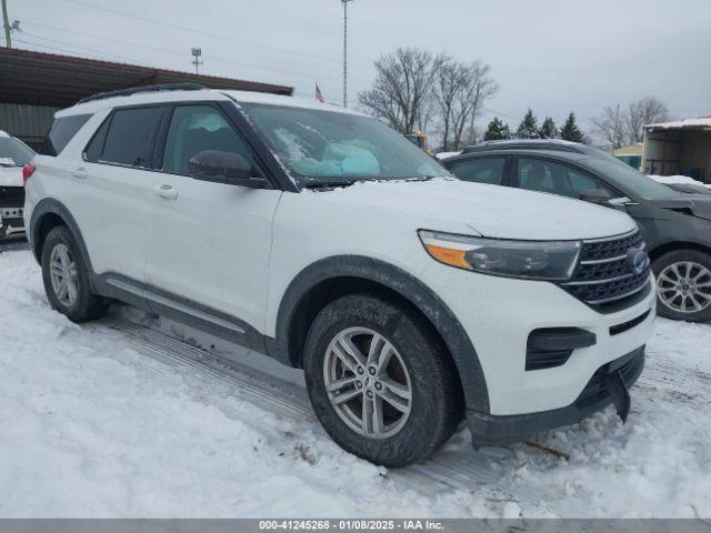
[[[441,132],[441,149],[449,151],[475,141],[475,120],[498,89],[482,61],[400,48],[375,61],[373,87],[358,102],[403,134]]]

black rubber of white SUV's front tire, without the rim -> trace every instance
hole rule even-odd
[[[350,328],[367,328],[382,335],[407,366],[410,413],[390,436],[358,433],[329,400],[323,375],[327,351],[331,341]],[[317,315],[307,336],[304,373],[311,404],[329,435],[346,451],[375,464],[398,467],[427,459],[462,419],[461,384],[441,343],[415,313],[375,295],[343,296]]]

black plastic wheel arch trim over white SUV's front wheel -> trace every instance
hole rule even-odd
[[[303,269],[281,300],[276,339],[268,341],[269,353],[284,364],[302,368],[306,336],[316,315],[328,303],[353,293],[387,294],[417,312],[451,358],[467,408],[489,412],[479,358],[457,316],[422,281],[377,259],[339,255]]]

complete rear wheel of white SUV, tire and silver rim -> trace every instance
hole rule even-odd
[[[53,228],[42,245],[42,279],[52,306],[72,322],[101,318],[108,301],[91,292],[89,271],[66,225]]]

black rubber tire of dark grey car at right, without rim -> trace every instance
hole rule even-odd
[[[701,302],[705,300],[707,302],[707,303],[702,303],[703,309],[700,311],[690,310],[690,311],[682,312],[679,309],[673,309],[672,304],[668,305],[664,302],[664,299],[660,294],[661,293],[660,285],[662,285],[663,288],[670,288],[672,285],[671,283],[663,281],[665,280],[665,278],[664,279],[660,278],[662,272],[664,272],[668,268],[670,268],[673,264],[685,263],[685,262],[695,263],[698,265],[705,268],[709,272],[711,272],[711,255],[698,250],[687,250],[687,249],[674,250],[672,252],[668,252],[668,253],[664,253],[663,255],[660,255],[652,262],[652,271],[654,272],[654,276],[658,280],[657,314],[659,314],[660,316],[664,316],[667,319],[685,320],[688,322],[711,321],[711,298],[709,300],[705,300],[705,296],[701,296],[701,298],[699,296],[699,291],[702,291],[701,294],[709,294],[711,296],[711,289],[708,285],[704,285],[701,289],[694,288],[694,290],[697,291],[695,292],[697,301]],[[697,274],[699,270],[694,268],[692,270],[692,275]],[[703,282],[703,283],[711,282],[711,278],[704,276],[703,280],[699,279],[697,282]],[[671,294],[671,293],[668,293],[668,294]]]

